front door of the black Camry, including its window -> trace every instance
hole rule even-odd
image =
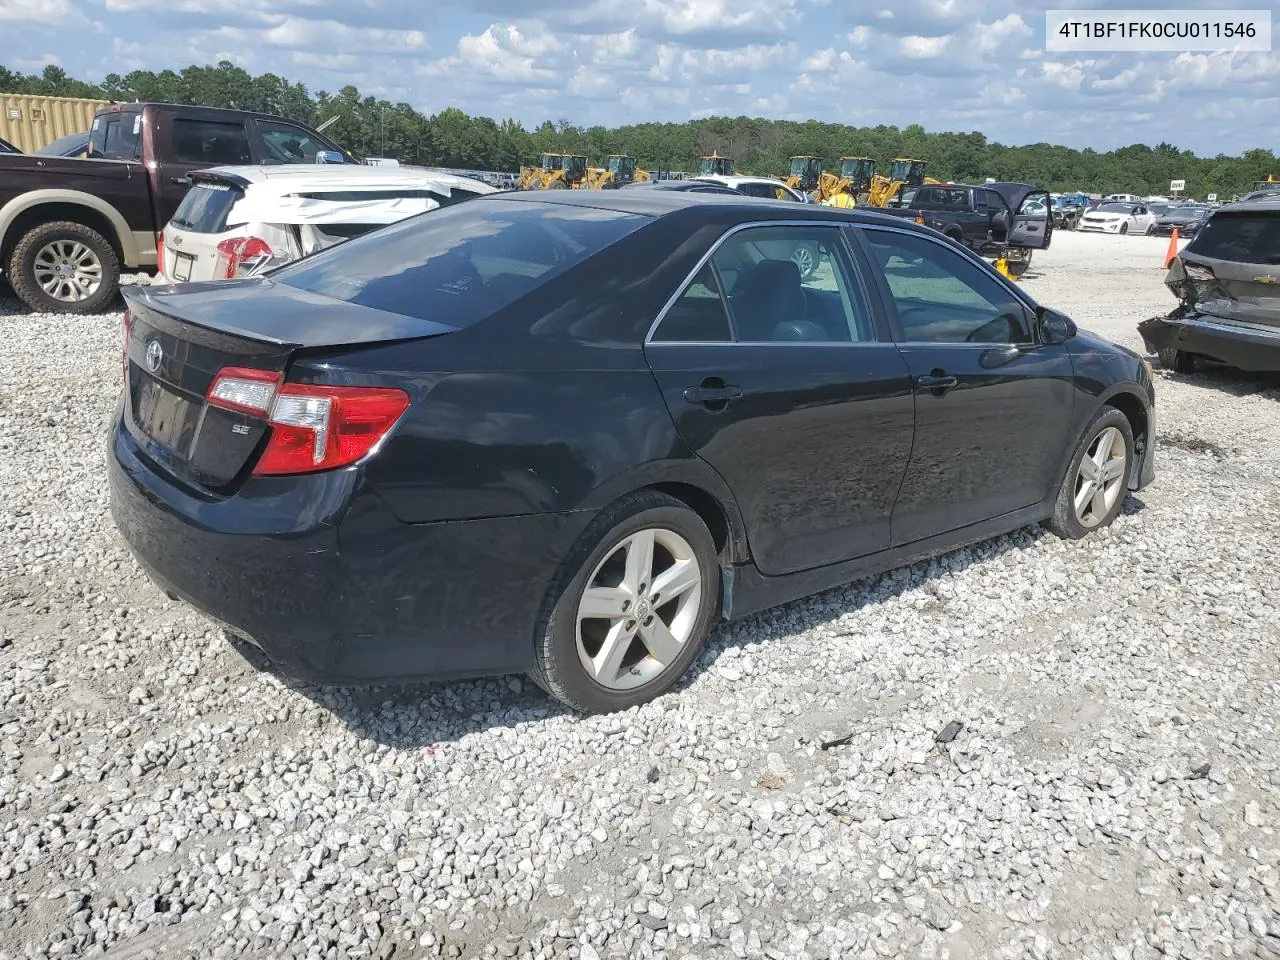
[[[901,229],[859,228],[915,385],[893,508],[906,544],[1039,503],[1070,443],[1071,357],[986,264]]]

